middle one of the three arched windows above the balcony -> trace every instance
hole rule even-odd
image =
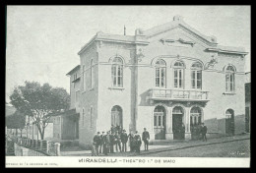
[[[184,69],[185,65],[181,61],[176,61],[174,66],[174,87],[184,87]]]

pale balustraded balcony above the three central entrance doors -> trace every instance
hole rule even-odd
[[[209,101],[209,91],[151,88],[150,99],[152,100],[177,100],[177,101]]]

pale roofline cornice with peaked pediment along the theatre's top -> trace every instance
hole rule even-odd
[[[149,44],[148,38],[153,37],[156,34],[159,34],[163,31],[174,29],[174,28],[182,28],[187,29],[194,34],[198,35],[202,39],[206,40],[209,44],[210,51],[218,51],[224,53],[236,53],[236,54],[247,54],[243,47],[231,47],[231,46],[223,46],[218,45],[217,38],[215,36],[207,36],[200,31],[191,28],[189,25],[184,23],[183,18],[181,16],[174,16],[173,21],[154,27],[152,29],[136,29],[135,35],[120,35],[120,34],[110,34],[110,33],[103,33],[102,31],[96,32],[96,35],[85,45],[81,48],[78,52],[80,55],[92,42],[96,40],[103,40],[103,41],[113,41],[113,42],[126,42],[126,43],[134,43],[134,44]]]

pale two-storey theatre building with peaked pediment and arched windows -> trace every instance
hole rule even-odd
[[[193,139],[203,122],[209,135],[245,132],[247,52],[219,45],[180,16],[135,35],[98,31],[78,54],[81,146],[111,125],[147,128],[151,141]]]

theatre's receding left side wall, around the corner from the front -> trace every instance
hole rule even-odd
[[[94,87],[90,88],[90,62],[94,60]],[[85,65],[85,71],[82,72],[80,83],[80,120],[79,120],[79,144],[81,147],[88,147],[93,143],[93,137],[96,133],[97,126],[97,95],[98,95],[98,58],[96,52],[96,44],[93,43],[87,51],[83,52],[80,56],[81,69]],[[86,78],[86,89],[84,89],[84,78]],[[90,115],[90,109],[93,108],[92,117]],[[83,115],[83,109],[85,115]],[[84,118],[83,118],[84,116]],[[84,120],[84,124],[83,124]]]

